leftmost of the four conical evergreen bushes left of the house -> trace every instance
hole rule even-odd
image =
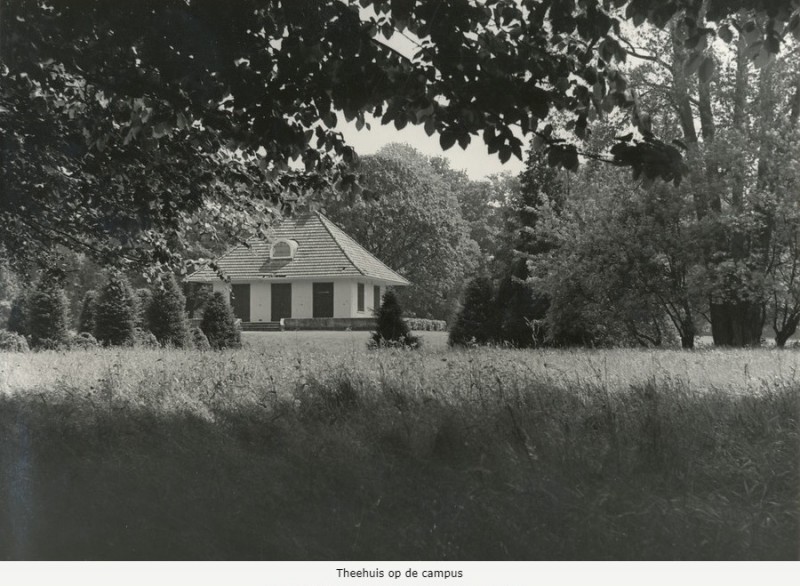
[[[34,348],[59,348],[67,343],[67,296],[59,284],[43,278],[28,297],[27,333]]]

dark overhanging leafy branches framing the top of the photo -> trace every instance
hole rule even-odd
[[[751,15],[734,17],[743,9]],[[701,77],[703,49],[740,27],[751,57],[800,34],[798,3],[773,0],[3,0],[0,221],[7,254],[53,244],[103,261],[175,263],[190,221],[256,231],[309,193],[355,186],[339,116],[480,137],[502,160],[533,135],[554,166],[595,117],[632,109],[638,133],[608,160],[679,181],[619,64],[624,19],[677,17]],[[402,37],[411,49],[392,40]],[[404,41],[404,42],[405,42]],[[589,153],[591,154],[591,153]]]

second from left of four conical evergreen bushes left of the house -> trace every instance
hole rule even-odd
[[[95,303],[94,336],[105,346],[130,346],[134,343],[136,301],[128,280],[111,274]]]

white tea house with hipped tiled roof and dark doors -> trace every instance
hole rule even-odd
[[[284,220],[273,232],[270,241],[228,251],[216,271],[186,278],[228,295],[243,329],[281,320],[287,329],[368,329],[386,287],[409,284],[319,212]]]

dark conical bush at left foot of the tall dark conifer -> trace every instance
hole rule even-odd
[[[494,305],[494,288],[486,277],[470,281],[464,294],[464,306],[456,316],[450,330],[451,346],[488,344],[497,339],[497,311]]]

